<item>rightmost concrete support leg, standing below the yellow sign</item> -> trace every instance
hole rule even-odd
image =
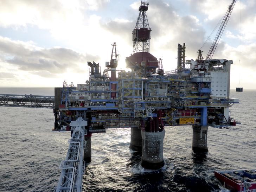
[[[207,152],[208,126],[193,125],[192,149],[194,152]]]

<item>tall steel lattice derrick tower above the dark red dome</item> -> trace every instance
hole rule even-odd
[[[139,7],[139,17],[137,18],[136,26],[133,30],[133,53],[149,52],[149,40],[151,28],[148,25],[146,11],[148,11],[147,2],[142,2]]]

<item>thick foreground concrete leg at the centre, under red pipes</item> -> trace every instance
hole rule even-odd
[[[141,136],[141,166],[147,169],[159,169],[164,166],[163,148],[165,130],[162,132],[141,131]]]

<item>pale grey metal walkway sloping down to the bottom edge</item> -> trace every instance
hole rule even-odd
[[[65,160],[60,163],[61,174],[56,192],[81,192],[82,180],[85,169],[84,149],[86,146],[84,135],[87,135],[87,121],[79,117],[77,121],[71,121],[73,130],[69,139],[69,149]]]

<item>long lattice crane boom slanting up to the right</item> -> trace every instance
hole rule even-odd
[[[226,14],[225,14],[225,16],[224,16],[224,18],[222,20],[222,23],[219,26],[219,30],[218,30],[218,32],[216,34],[216,37],[215,37],[215,39],[214,39],[214,41],[212,43],[212,46],[211,46],[211,48],[210,48],[210,50],[209,50],[209,52],[208,52],[208,54],[207,54],[207,56],[206,56],[206,58],[204,60],[204,65],[209,65],[210,60],[212,59],[212,56],[213,56],[213,54],[214,54],[214,52],[216,50],[216,47],[217,47],[217,45],[219,43],[220,37],[222,36],[222,33],[223,33],[223,31],[224,31],[224,29],[225,29],[225,27],[226,27],[226,25],[227,25],[227,23],[229,21],[229,18],[230,18],[230,15],[231,15],[232,11],[233,11],[235,3],[236,3],[236,0],[233,0],[231,5],[228,8],[228,11],[226,12]]]

